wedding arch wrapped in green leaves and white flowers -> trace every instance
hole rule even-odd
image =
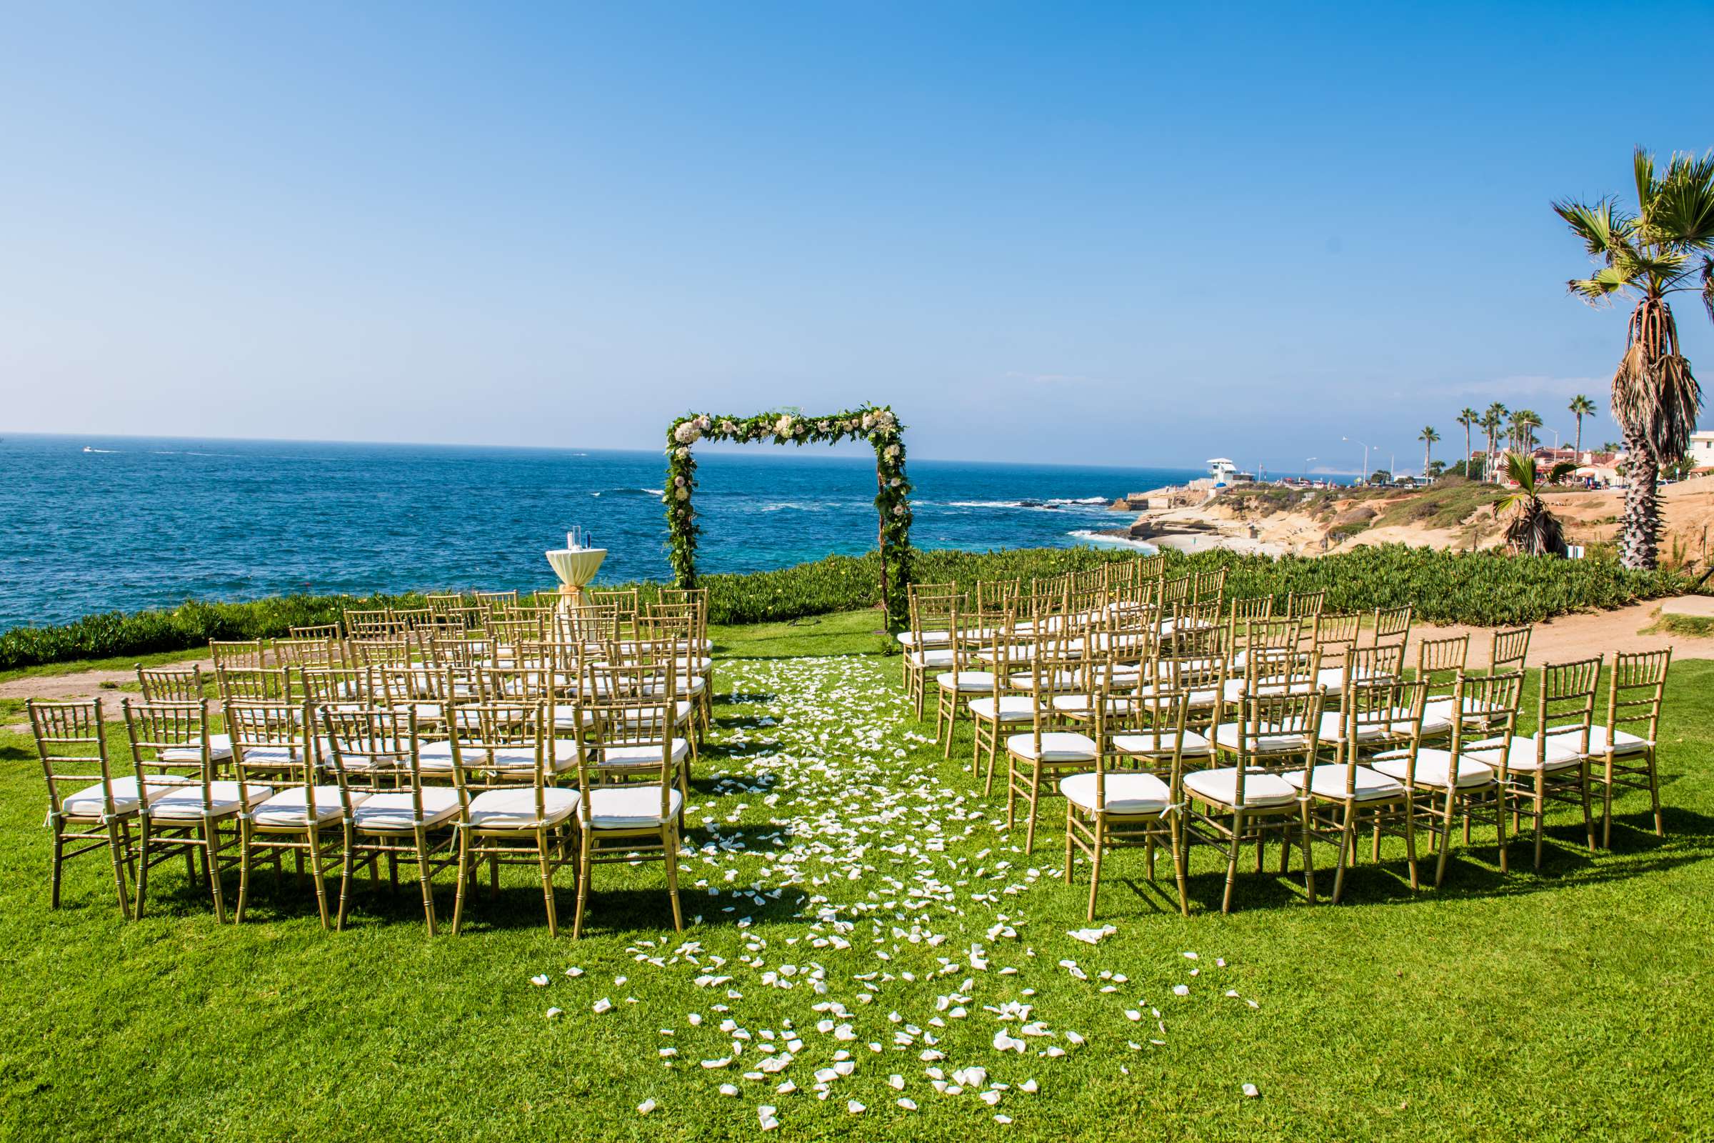
[[[737,440],[758,444],[836,444],[867,440],[874,446],[874,507],[881,516],[881,605],[888,624],[903,627],[910,620],[905,584],[910,583],[910,482],[905,480],[903,425],[891,406],[864,404],[830,416],[804,416],[799,410],[758,413],[754,416],[711,416],[686,413],[667,428],[667,506],[668,559],[674,583],[696,586],[696,458],[698,440]]]

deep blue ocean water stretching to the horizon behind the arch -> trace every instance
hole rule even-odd
[[[874,547],[867,447],[698,454],[703,572]],[[924,548],[1099,542],[1104,506],[1200,471],[912,459]],[[667,579],[658,452],[39,437],[0,440],[0,631],[288,591],[547,588],[581,524],[598,581]]]

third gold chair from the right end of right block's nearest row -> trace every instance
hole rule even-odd
[[[1489,747],[1498,756],[1510,754],[1512,735],[1517,730],[1517,706],[1524,691],[1524,673],[1459,675],[1453,684],[1453,709],[1483,709],[1489,713],[1489,730],[1500,735]],[[1471,821],[1486,817],[1493,823],[1500,848],[1500,872],[1507,872],[1507,807],[1500,795],[1500,776],[1493,766],[1465,751],[1474,737],[1465,720],[1453,720],[1452,742],[1445,747],[1419,747],[1412,757],[1407,751],[1376,754],[1371,766],[1404,783],[1412,812],[1429,828],[1429,845],[1440,853],[1435,862],[1435,888],[1447,877],[1447,857],[1452,850],[1452,823],[1464,821],[1464,841],[1471,840]]]

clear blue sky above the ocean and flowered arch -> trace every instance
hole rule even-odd
[[[1548,202],[1714,146],[1620,22],[1714,43],[1707,3],[14,5],[0,428],[651,447],[871,399],[917,456],[1414,470],[1582,391],[1609,439],[1623,312]]]

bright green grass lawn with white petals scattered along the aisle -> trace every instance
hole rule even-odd
[[[1399,853],[1339,908],[1212,853],[1181,919],[1109,859],[1083,919],[1051,804],[1034,855],[874,655],[874,613],[716,631],[720,727],[682,864],[596,871],[550,939],[531,874],[428,941],[406,886],[326,934],[261,879],[218,925],[177,867],[120,920],[105,867],[50,912],[41,778],[0,732],[3,1138],[1608,1138],[1705,1134],[1714,667],[1673,668],[1668,838],[1553,821],[1541,876]],[[10,706],[0,725],[19,721]],[[118,739],[115,737],[115,747]],[[1519,850],[1522,857],[1524,850]],[[1321,855],[1330,860],[1330,853]],[[1167,888],[1162,862],[1160,888]],[[569,879],[562,881],[569,908]],[[451,907],[442,883],[440,903]],[[1111,925],[1111,932],[1106,927]],[[1253,1093],[1253,1095],[1251,1095]],[[824,1098],[823,1098],[824,1097]]]

